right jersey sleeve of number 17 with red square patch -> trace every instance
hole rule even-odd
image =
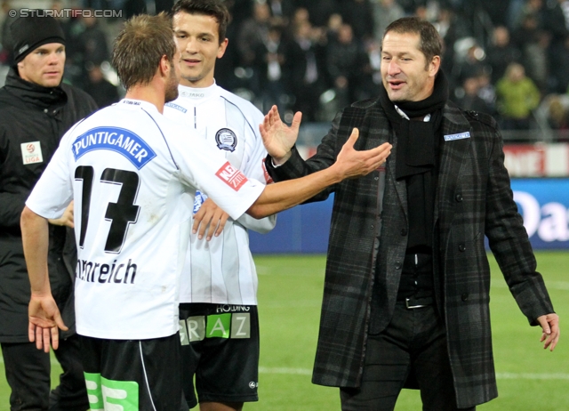
[[[260,181],[248,179],[202,139],[194,135],[179,137],[183,135],[183,131],[173,133],[169,141],[181,181],[206,192],[216,205],[237,220],[251,207],[265,186]]]

